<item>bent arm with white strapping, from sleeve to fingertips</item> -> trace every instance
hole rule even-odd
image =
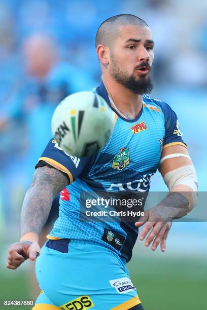
[[[163,149],[159,171],[169,194],[156,207],[146,211],[145,216],[135,225],[140,227],[146,223],[140,240],[144,240],[153,227],[145,245],[149,246],[154,240],[151,249],[155,250],[160,244],[161,251],[165,251],[172,219],[185,216],[196,204],[197,178],[189,153],[183,145]]]

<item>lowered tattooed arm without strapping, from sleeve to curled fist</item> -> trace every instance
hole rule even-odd
[[[66,174],[48,166],[38,168],[27,190],[20,219],[20,242],[9,246],[7,267],[16,269],[40,253],[40,232],[48,218],[53,199],[68,185]]]

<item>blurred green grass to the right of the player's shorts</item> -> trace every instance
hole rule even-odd
[[[206,261],[192,258],[141,258],[128,269],[145,310],[204,310],[206,266]]]

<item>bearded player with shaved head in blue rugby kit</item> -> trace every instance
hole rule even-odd
[[[146,246],[154,251],[160,244],[165,251],[171,220],[196,204],[196,174],[176,113],[146,95],[152,90],[153,46],[148,25],[130,14],[111,17],[97,30],[102,83],[94,105],[97,93],[111,106],[114,132],[94,157],[71,157],[51,139],[39,159],[23,203],[21,239],[10,246],[7,262],[16,269],[27,258],[36,260],[39,233],[61,191],[59,218],[37,259],[43,292],[34,309],[143,309],[125,266],[139,227],[145,224],[140,240],[146,238]],[[81,191],[144,196],[158,168],[169,194],[139,220],[80,220]]]

